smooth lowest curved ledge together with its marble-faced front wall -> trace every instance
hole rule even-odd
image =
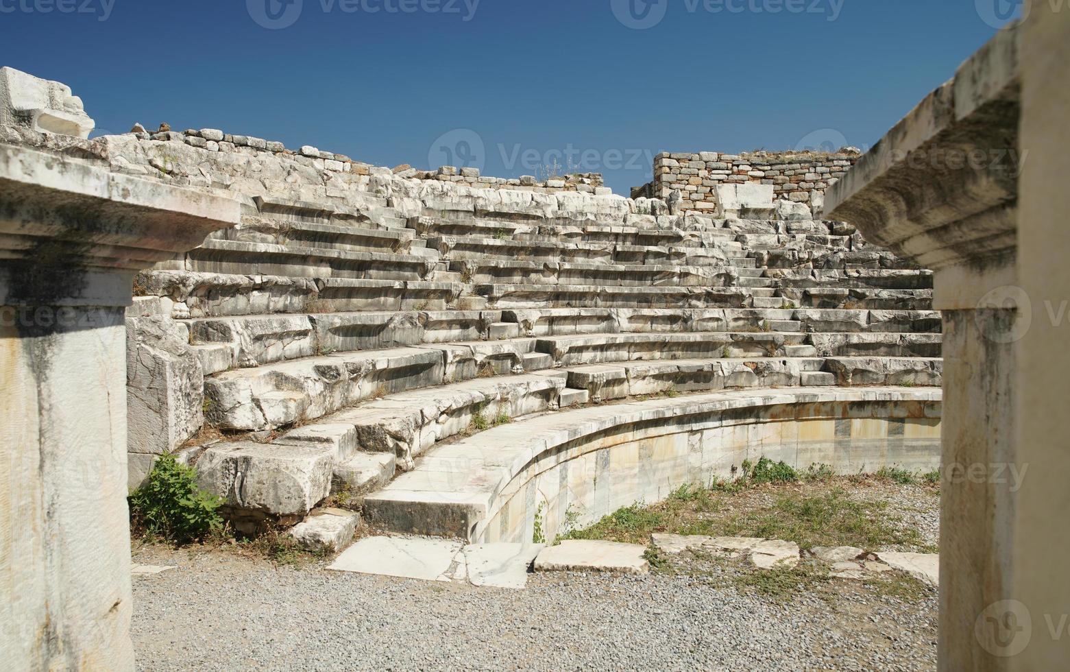
[[[429,450],[368,495],[372,523],[470,543],[547,538],[744,460],[837,473],[939,464],[937,390],[723,392],[592,407],[496,427]],[[536,429],[537,428],[537,429]]]

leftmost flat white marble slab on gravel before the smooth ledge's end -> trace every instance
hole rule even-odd
[[[460,541],[426,537],[367,537],[327,569],[424,581],[450,581],[463,562]],[[460,556],[460,558],[458,558]]]

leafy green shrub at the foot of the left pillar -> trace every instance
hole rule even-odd
[[[135,526],[175,544],[202,539],[223,528],[223,502],[201,490],[194,470],[164,455],[146,480],[129,497]]]

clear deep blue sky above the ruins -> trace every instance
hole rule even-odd
[[[0,0],[0,65],[71,85],[111,133],[167,121],[417,168],[454,153],[498,177],[571,148],[627,193],[662,150],[865,149],[1017,2],[284,1]]]

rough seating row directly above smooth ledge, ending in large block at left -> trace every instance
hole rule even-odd
[[[592,395],[608,401],[670,390],[806,385],[808,376],[822,375],[816,371],[824,363],[817,357],[644,362],[475,379],[342,408],[270,444],[221,442],[190,456],[197,458],[201,484],[227,501],[232,520],[248,522],[251,530],[268,516],[295,521],[332,488],[351,495],[372,492],[396,470],[418,468],[417,458],[438,442],[473,428],[585,403]],[[854,366],[884,371],[882,380],[939,382],[938,361],[856,358]],[[780,391],[761,394],[775,392]]]

